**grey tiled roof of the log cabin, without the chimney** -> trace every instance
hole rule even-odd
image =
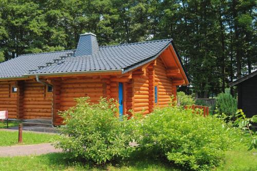
[[[171,42],[171,39],[167,39],[103,46],[99,47],[99,51],[83,56],[68,54],[74,53],[75,50],[21,55],[0,63],[0,78],[23,77],[28,74],[106,70],[121,70],[124,73],[154,60]],[[68,57],[61,58],[61,56]],[[39,69],[39,66],[45,67]]]

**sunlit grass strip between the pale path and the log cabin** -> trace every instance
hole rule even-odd
[[[23,143],[20,145],[53,142],[57,139],[57,137],[58,135],[53,134],[23,132]],[[17,141],[18,131],[0,130],[0,146],[17,145]]]

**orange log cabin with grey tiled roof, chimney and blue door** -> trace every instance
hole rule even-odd
[[[17,56],[0,63],[0,110],[13,119],[51,119],[75,106],[75,98],[119,103],[119,115],[147,114],[170,103],[189,84],[172,39],[98,46],[93,33],[77,49]],[[133,111],[132,113],[129,111]]]

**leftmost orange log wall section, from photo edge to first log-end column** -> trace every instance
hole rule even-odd
[[[17,93],[12,92],[15,82],[0,82],[0,110],[8,110],[8,118],[16,118]]]

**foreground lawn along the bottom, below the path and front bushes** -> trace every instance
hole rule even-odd
[[[257,155],[247,151],[246,147],[239,145],[233,150],[226,151],[225,163],[213,169],[213,171],[255,171],[257,170]],[[96,167],[89,163],[67,162],[65,153],[48,154],[31,157],[6,157],[0,158],[0,170],[173,170],[180,171],[169,164],[163,164],[144,157],[135,157],[130,161],[119,164],[107,164]]]

